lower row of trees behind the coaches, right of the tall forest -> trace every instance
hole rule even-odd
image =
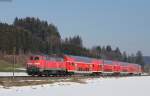
[[[119,47],[112,49],[111,45],[106,45],[102,47],[94,46],[89,49],[83,47],[82,39],[80,36],[66,38],[62,42],[62,50],[62,52],[65,54],[136,63],[144,66],[143,54],[141,51],[137,51],[136,54],[127,54],[125,51],[121,52]]]

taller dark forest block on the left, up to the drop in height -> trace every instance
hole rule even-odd
[[[12,25],[0,23],[0,51],[15,53],[50,53],[59,50],[60,34],[53,24],[38,18],[17,17]]]

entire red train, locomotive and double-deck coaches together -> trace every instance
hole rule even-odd
[[[27,73],[39,76],[72,74],[140,75],[142,71],[140,65],[126,62],[71,55],[62,57],[33,55],[27,61]]]

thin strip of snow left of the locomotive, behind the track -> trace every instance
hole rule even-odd
[[[25,72],[15,72],[15,76],[28,76]],[[0,76],[13,76],[13,72],[0,72]]]

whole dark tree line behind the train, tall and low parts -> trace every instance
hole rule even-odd
[[[15,18],[13,24],[0,23],[0,54],[71,54],[144,64],[142,52],[128,55],[110,45],[83,46],[77,35],[62,39],[57,27],[35,17]]]

